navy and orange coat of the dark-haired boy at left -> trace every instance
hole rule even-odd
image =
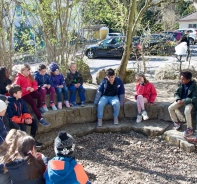
[[[16,100],[15,97],[8,97],[7,113],[9,118],[18,124],[23,124],[27,118],[32,119],[23,99]]]

